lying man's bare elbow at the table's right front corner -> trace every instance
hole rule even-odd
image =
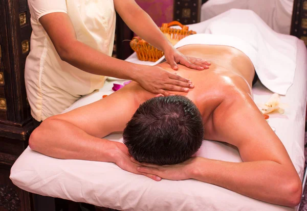
[[[288,182],[287,192],[287,206],[297,206],[302,196],[302,183],[300,179],[294,179],[294,181]]]

